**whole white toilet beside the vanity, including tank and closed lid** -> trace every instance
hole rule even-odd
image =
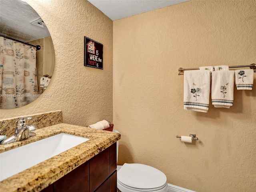
[[[116,158],[118,160],[118,141]],[[117,188],[120,192],[168,192],[168,183],[165,174],[154,167],[125,163],[117,166]]]

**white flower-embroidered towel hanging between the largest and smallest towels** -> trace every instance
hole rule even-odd
[[[212,72],[212,104],[216,108],[230,108],[234,100],[234,71]]]

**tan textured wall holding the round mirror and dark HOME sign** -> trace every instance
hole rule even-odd
[[[44,94],[18,109],[0,110],[0,119],[63,111],[63,122],[89,125],[112,121],[113,22],[86,0],[26,0],[44,20],[55,50],[52,80]],[[103,44],[104,69],[84,66],[84,36]]]

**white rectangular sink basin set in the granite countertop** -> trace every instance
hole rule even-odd
[[[61,133],[0,153],[0,181],[88,140]]]

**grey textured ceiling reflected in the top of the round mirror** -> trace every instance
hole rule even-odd
[[[30,21],[40,16],[20,0],[0,0],[0,34],[23,42],[50,36],[48,29]]]

